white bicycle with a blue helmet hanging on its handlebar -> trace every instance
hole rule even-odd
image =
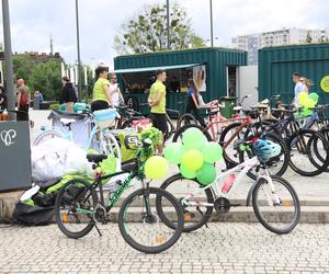
[[[204,186],[196,180],[175,174],[168,178],[160,186],[171,193],[181,193],[175,196],[184,208],[184,232],[206,225],[214,208],[218,214],[226,214],[230,207],[240,206],[230,202],[231,194],[252,168],[256,168],[258,175],[249,191],[247,206],[251,199],[258,220],[266,229],[279,235],[288,233],[298,224],[300,206],[296,192],[283,178],[270,175],[264,163],[268,158],[280,153],[280,146],[269,140],[258,139],[253,145],[251,141],[241,142],[240,148],[252,149],[258,157],[220,173],[209,185]],[[174,224],[170,222],[169,218],[163,221],[174,228]]]

